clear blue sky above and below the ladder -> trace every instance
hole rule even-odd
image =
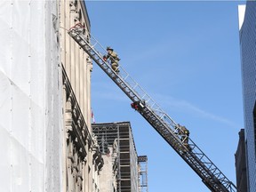
[[[88,1],[92,35],[236,184],[244,127],[237,5],[243,2]],[[138,155],[148,156],[149,191],[209,191],[131,101],[94,64],[97,123],[130,121]]]

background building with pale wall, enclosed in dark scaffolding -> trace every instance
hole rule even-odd
[[[138,164],[141,161],[138,161],[130,122],[92,124],[92,132],[104,159],[100,172],[101,190],[137,192],[142,191],[140,183],[144,183],[144,189],[148,188],[146,180],[140,181],[140,170],[147,175],[147,169],[140,169],[145,166]]]

